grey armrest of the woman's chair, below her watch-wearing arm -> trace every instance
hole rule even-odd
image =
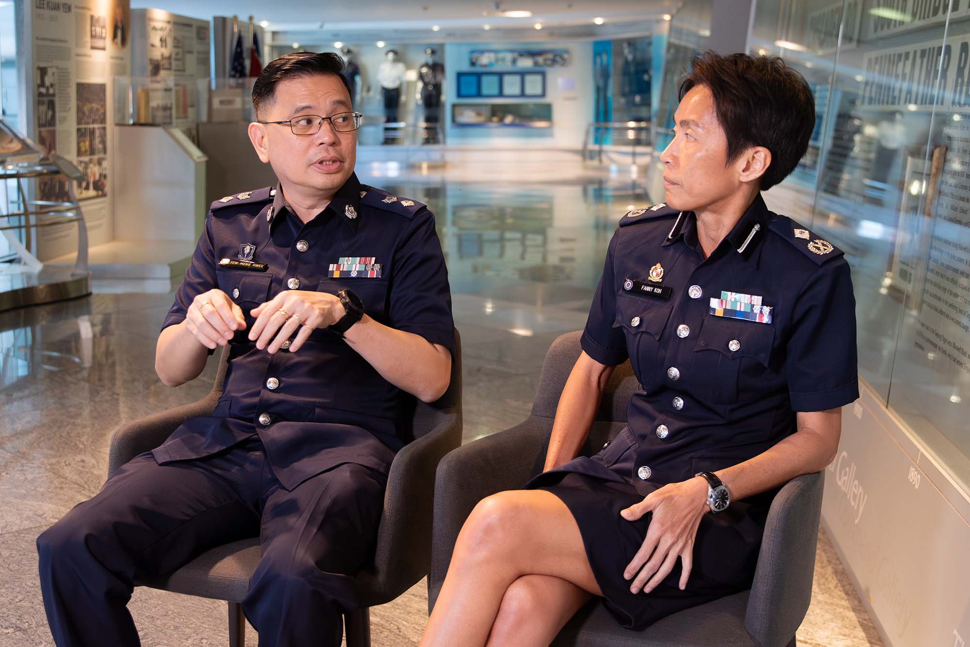
[[[785,484],[768,512],[744,626],[761,645],[786,645],[812,600],[823,472]]]

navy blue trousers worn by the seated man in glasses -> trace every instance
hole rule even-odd
[[[164,466],[142,454],[37,539],[54,642],[141,644],[127,609],[136,580],[259,535],[242,610],[260,647],[339,647],[341,615],[357,607],[350,576],[372,558],[385,485],[384,475],[345,464],[287,491],[255,436]]]

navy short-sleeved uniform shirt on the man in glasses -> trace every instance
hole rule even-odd
[[[238,261],[268,267],[243,270]],[[248,339],[255,321],[249,311],[287,289],[347,288],[376,321],[452,349],[451,294],[432,212],[356,175],[307,224],[278,185],[227,196],[212,203],[162,329],[182,321],[195,296],[212,288],[242,308],[246,328],[230,340],[212,415],[186,421],[154,450],[155,460],[207,456],[258,434],[290,490],[343,463],[387,473],[411,439],[402,421],[410,420],[413,398],[325,329],[295,353],[259,350]]]

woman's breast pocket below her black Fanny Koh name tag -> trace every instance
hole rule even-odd
[[[627,335],[630,364],[643,389],[654,384],[660,340],[672,309],[669,302],[634,297],[625,292],[616,295],[613,326],[623,328]]]

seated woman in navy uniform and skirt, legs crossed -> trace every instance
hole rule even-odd
[[[858,397],[849,265],[760,196],[808,146],[811,90],[779,58],[713,52],[680,89],[666,202],[609,244],[547,471],[471,512],[426,647],[548,645],[591,596],[642,630],[744,591],[777,489],[835,456]],[[576,458],[628,357],[627,427]]]

